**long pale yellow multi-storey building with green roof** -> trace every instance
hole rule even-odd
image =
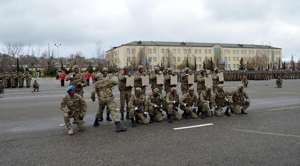
[[[197,70],[203,67],[203,61],[207,59],[218,60],[220,66],[225,63],[225,69],[237,70],[239,60],[254,58],[256,54],[265,54],[268,57],[270,68],[278,68],[278,60],[282,59],[282,49],[267,45],[253,44],[224,44],[224,43],[196,43],[196,42],[154,42],[134,41],[106,51],[106,54],[115,54],[119,57],[119,68],[122,66],[136,66],[142,62],[145,69],[153,70],[155,66],[164,65],[172,67],[176,71],[184,68],[183,60],[189,60]],[[221,64],[222,63],[222,64]],[[137,64],[140,65],[140,64]],[[180,68],[179,68],[180,67]]]

